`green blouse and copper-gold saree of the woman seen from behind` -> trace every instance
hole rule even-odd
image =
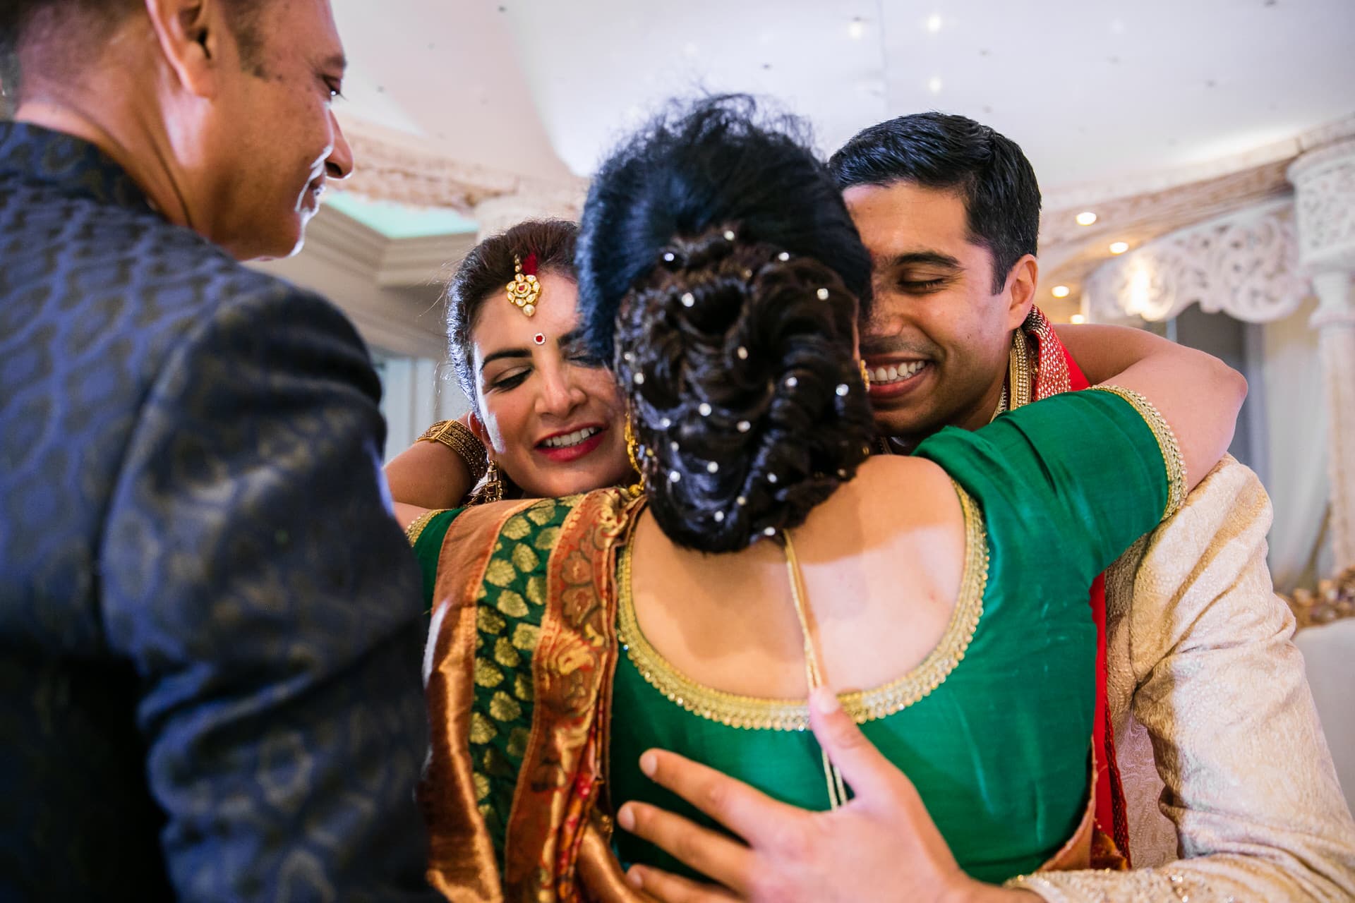
[[[843,705],[913,780],[972,876],[1085,866],[1087,586],[1179,502],[1171,435],[1141,399],[1089,391],[943,431],[917,454],[946,468],[965,512],[961,597],[917,667]],[[629,799],[709,823],[640,774],[653,746],[828,808],[802,700],[702,686],[638,630],[626,550],[642,505],[599,490],[438,513],[412,531],[436,602],[420,801],[430,880],[449,899],[633,899],[622,864],[682,872],[610,829]]]

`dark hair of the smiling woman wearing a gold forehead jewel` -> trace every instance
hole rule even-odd
[[[575,279],[575,242],[579,225],[564,219],[527,219],[485,238],[470,249],[447,283],[447,352],[457,382],[476,402],[474,351],[470,333],[485,302],[508,303],[504,287],[512,282],[515,257],[537,255],[537,272]]]

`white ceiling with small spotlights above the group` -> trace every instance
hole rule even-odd
[[[1355,0],[333,0],[344,115],[461,164],[587,175],[663,99],[780,99],[832,150],[939,108],[1046,194],[1253,150],[1355,112]],[[360,161],[359,161],[360,164]]]

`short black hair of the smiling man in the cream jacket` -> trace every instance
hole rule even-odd
[[[1039,240],[1039,183],[1020,146],[965,116],[917,112],[859,131],[828,161],[841,190],[913,181],[959,192],[970,241],[993,257],[993,294]]]

